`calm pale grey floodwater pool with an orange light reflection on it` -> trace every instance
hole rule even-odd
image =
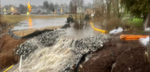
[[[14,26],[13,30],[26,30],[26,29],[40,29],[45,27],[63,26],[66,18],[53,18],[53,19],[31,19],[21,21],[18,25]]]

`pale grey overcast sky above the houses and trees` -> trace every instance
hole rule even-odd
[[[15,5],[18,6],[19,4],[27,4],[27,2],[30,1],[31,5],[43,5],[44,1],[53,2],[53,3],[67,3],[69,4],[70,0],[1,0],[1,5]],[[93,3],[93,0],[84,0],[85,4],[88,4],[89,2]]]

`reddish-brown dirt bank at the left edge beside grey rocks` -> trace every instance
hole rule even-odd
[[[25,40],[16,40],[9,35],[4,35],[0,39],[0,71],[12,64],[18,63],[19,56],[14,52],[17,45],[20,45]]]

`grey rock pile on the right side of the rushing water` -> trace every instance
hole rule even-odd
[[[74,50],[77,53],[85,54],[89,51],[96,51],[103,47],[103,43],[108,41],[108,36],[106,35],[96,35],[94,37],[88,37],[85,39],[75,40]],[[73,46],[73,45],[72,45]]]

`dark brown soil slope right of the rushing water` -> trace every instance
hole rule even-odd
[[[145,51],[138,41],[113,39],[81,64],[78,72],[149,72]]]

